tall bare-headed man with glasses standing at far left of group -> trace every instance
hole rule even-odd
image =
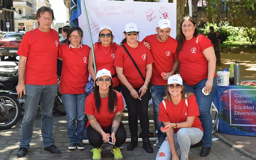
[[[20,130],[18,157],[26,156],[33,134],[33,124],[40,101],[42,138],[44,150],[52,154],[60,153],[54,145],[52,135],[52,108],[57,94],[57,55],[59,35],[50,29],[54,19],[53,10],[41,7],[37,10],[38,28],[27,32],[20,44],[19,84],[16,88],[19,97],[25,94],[25,113]],[[40,37],[40,38],[39,38]]]

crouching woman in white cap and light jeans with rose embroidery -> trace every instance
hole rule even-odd
[[[164,100],[159,105],[159,121],[167,137],[156,155],[156,160],[188,160],[191,144],[203,137],[202,124],[198,118],[199,108],[193,93],[183,92],[182,78],[173,75],[168,78]],[[180,155],[181,151],[181,155]]]

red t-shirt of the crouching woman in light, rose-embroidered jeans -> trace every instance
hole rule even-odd
[[[181,123],[187,121],[187,116],[196,116],[191,127],[199,128],[203,130],[202,123],[199,120],[199,108],[196,102],[196,96],[191,95],[188,98],[188,106],[185,100],[181,99],[178,105],[174,105],[172,101],[165,101],[166,110],[164,108],[163,102],[159,104],[159,121],[161,122],[171,122],[171,123]],[[180,128],[173,128],[174,133],[177,133]]]

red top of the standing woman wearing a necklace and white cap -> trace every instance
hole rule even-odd
[[[101,45],[101,42],[100,43],[98,43],[98,42],[95,43],[94,55],[95,55],[95,62],[96,62],[97,72],[99,70],[105,68],[105,69],[110,71],[111,76],[116,74],[116,67],[114,66],[114,60],[115,60],[115,52],[116,52],[117,47],[118,46],[116,44],[110,44],[109,47],[103,47]],[[117,76],[114,77],[112,79],[112,81],[114,83],[114,87],[116,87],[120,83]]]

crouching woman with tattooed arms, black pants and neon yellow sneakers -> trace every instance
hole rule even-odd
[[[123,96],[120,92],[113,90],[111,73],[107,69],[97,72],[94,83],[94,92],[86,98],[85,102],[85,113],[89,119],[86,133],[93,147],[92,159],[101,159],[100,152],[104,141],[114,144],[111,149],[114,159],[123,159],[119,148],[126,140],[126,131],[121,122],[124,109]]]

